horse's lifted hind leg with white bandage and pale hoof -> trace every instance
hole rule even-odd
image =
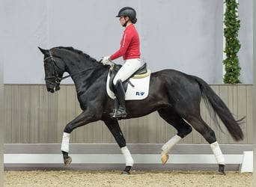
[[[168,160],[168,152],[171,150],[171,147],[174,147],[174,145],[177,144],[182,138],[192,132],[192,127],[186,123],[186,121],[183,120],[183,118],[180,117],[180,115],[177,114],[173,108],[162,108],[159,109],[158,112],[162,119],[177,129],[177,135],[174,135],[174,137],[172,137],[162,146],[161,160],[162,164],[165,165]]]

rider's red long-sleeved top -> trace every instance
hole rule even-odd
[[[121,56],[123,56],[124,60],[140,58],[141,56],[138,32],[133,24],[125,28],[120,49],[110,56],[110,60],[113,61]]]

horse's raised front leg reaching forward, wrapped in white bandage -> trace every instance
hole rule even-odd
[[[73,131],[73,129],[76,129],[79,126],[84,126],[96,120],[99,120],[99,117],[96,117],[95,115],[89,115],[88,111],[83,111],[82,114],[79,114],[79,116],[77,116],[74,120],[70,121],[70,123],[67,123],[67,125],[65,126],[61,143],[61,152],[63,154],[64,165],[66,167],[72,162],[71,157],[68,156],[71,132]]]

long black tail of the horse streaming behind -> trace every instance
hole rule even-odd
[[[232,138],[234,138],[235,141],[243,140],[243,132],[240,128],[240,122],[242,122],[245,117],[240,120],[235,120],[231,111],[228,109],[227,105],[225,105],[225,102],[219,98],[213,89],[210,88],[204,80],[196,76],[194,76],[194,78],[198,82],[198,85],[200,85],[202,98],[208,104],[207,106],[210,105],[213,108],[213,111],[218,114],[222,123],[224,123],[228,129],[228,132],[231,133]],[[220,127],[219,123],[217,123],[217,125]]]

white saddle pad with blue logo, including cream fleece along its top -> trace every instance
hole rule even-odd
[[[111,76],[111,71],[109,70],[109,75],[106,83],[106,91],[110,98],[115,99],[115,93],[109,88],[110,82],[113,81]],[[148,96],[150,84],[150,70],[147,70],[147,73],[139,74],[129,78],[126,86],[125,99],[126,100],[141,100],[145,99]]]

